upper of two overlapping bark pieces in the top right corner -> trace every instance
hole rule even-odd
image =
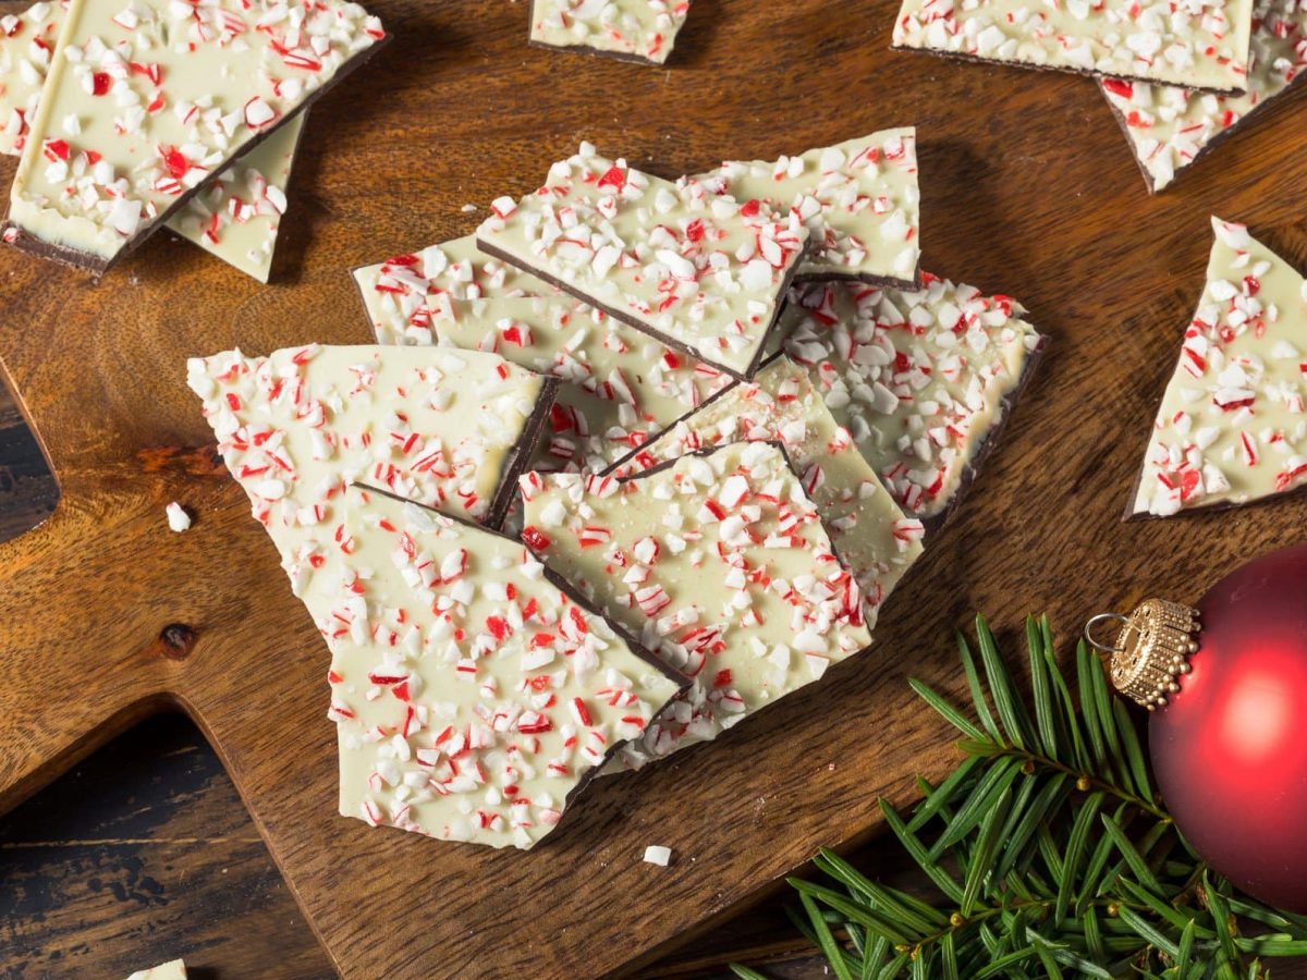
[[[1243,91],[1253,0],[903,0],[894,46]]]

